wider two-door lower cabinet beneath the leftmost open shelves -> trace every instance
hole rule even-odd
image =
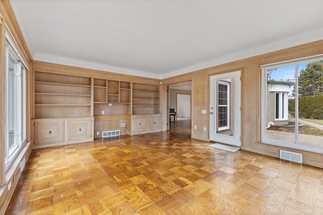
[[[35,149],[93,140],[93,117],[34,119],[33,125]]]

